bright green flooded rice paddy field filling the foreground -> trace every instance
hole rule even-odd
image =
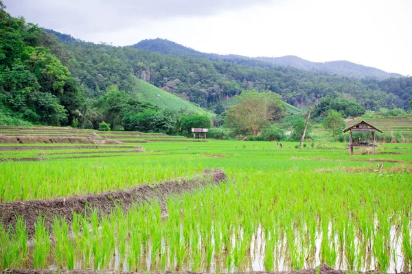
[[[93,134],[66,130],[9,127],[0,134]],[[384,143],[376,155],[349,156],[344,143],[295,149],[297,143],[283,142],[282,149],[278,142],[95,134],[93,140],[123,143],[0,144],[0,203],[155,186],[203,169],[221,169],[228,179],[170,196],[164,209],[156,200],[111,214],[91,209],[71,221],[56,217],[51,226],[40,216],[32,234],[23,218],[3,221],[0,270],[233,273],[325,263],[345,271],[412,271],[411,144]]]

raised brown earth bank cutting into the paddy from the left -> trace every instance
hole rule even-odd
[[[5,227],[16,224],[16,216],[22,216],[27,224],[27,231],[34,234],[34,223],[38,216],[45,217],[47,226],[52,225],[54,216],[64,217],[71,221],[73,212],[87,214],[85,208],[97,209],[100,214],[108,214],[118,204],[128,210],[133,203],[144,203],[152,199],[159,200],[165,214],[165,199],[170,195],[196,190],[208,184],[220,184],[226,179],[220,169],[205,169],[203,175],[193,179],[179,179],[158,184],[141,184],[133,188],[108,191],[93,195],[80,195],[65,198],[32,201],[12,201],[0,203],[1,221]]]

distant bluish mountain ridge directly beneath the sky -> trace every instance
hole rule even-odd
[[[354,64],[348,61],[332,61],[332,62],[310,62],[297,56],[282,56],[282,57],[256,57],[249,58],[241,55],[219,55],[215,53],[203,53],[179,45],[176,42],[157,38],[146,39],[133,45],[137,49],[146,49],[148,51],[159,52],[163,54],[187,55],[197,58],[207,58],[214,61],[233,62],[236,64],[247,64],[249,66],[265,67],[268,64],[275,66],[292,66],[296,69],[304,69],[306,71],[316,71],[322,73],[337,74],[347,77],[355,77],[358,79],[388,79],[391,77],[402,77],[398,73],[387,73],[380,69],[375,69],[361,64]],[[261,62],[257,62],[261,61]]]

